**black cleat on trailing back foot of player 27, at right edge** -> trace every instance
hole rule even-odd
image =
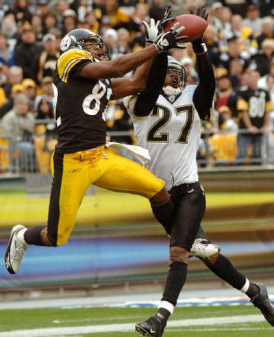
[[[271,303],[269,299],[269,295],[267,293],[266,287],[263,284],[256,284],[260,289],[258,295],[251,299],[251,303],[256,306],[256,308],[260,309],[266,321],[269,324],[274,326],[274,305]]]

